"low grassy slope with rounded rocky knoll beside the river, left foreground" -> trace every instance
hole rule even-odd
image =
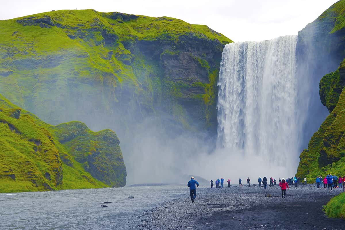
[[[116,134],[110,130],[95,133],[85,124],[71,123],[83,126],[87,135],[72,135],[69,124],[50,126],[0,95],[0,192],[124,186],[126,169]],[[86,161],[59,142],[62,133],[70,143],[83,144],[79,151],[88,154]],[[100,156],[107,161],[105,166],[102,161],[97,164]],[[85,167],[85,162],[94,168]],[[108,172],[109,167],[117,171]]]

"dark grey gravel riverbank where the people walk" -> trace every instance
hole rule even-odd
[[[345,220],[327,218],[322,211],[343,189],[290,187],[282,199],[280,187],[197,188],[195,203],[189,190],[180,198],[137,216],[137,229],[344,230]],[[271,194],[272,197],[266,196]]]

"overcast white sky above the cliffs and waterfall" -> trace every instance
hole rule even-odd
[[[297,34],[336,0],[0,0],[0,20],[62,9],[168,16],[203,24],[234,41]]]

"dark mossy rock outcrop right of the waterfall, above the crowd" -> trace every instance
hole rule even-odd
[[[345,77],[344,61],[320,81],[320,98],[331,112],[300,154],[297,176],[316,178],[345,171]],[[340,92],[340,93],[339,93]]]

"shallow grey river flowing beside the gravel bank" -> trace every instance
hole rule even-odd
[[[128,229],[140,215],[182,193],[185,185],[0,193],[0,229]],[[134,199],[128,199],[134,196]],[[112,203],[103,203],[111,201]],[[108,207],[101,207],[106,204]]]

